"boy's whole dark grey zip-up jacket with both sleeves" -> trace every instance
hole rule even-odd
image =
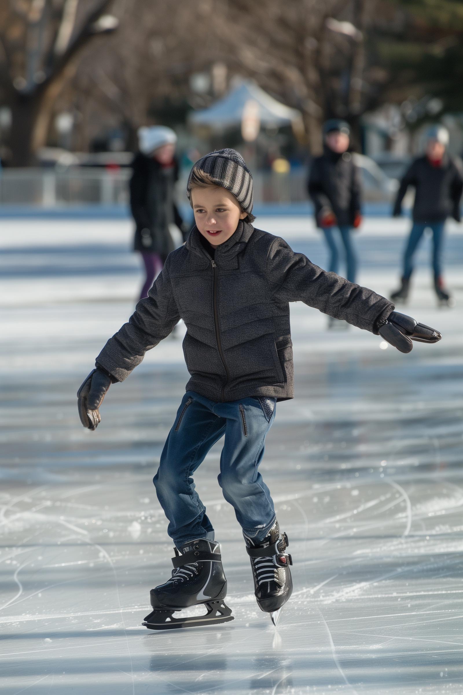
[[[96,362],[122,381],[183,318],[187,390],[216,402],[292,398],[289,302],[297,301],[372,332],[394,309],[251,224],[240,222],[214,261],[194,227]]]

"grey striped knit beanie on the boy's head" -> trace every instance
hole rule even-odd
[[[235,149],[217,149],[201,157],[193,166],[187,182],[187,196],[191,203],[191,180],[193,170],[200,170],[208,174],[217,183],[217,186],[226,188],[232,193],[242,210],[249,215],[249,221],[253,222],[254,191],[253,177],[241,154]]]

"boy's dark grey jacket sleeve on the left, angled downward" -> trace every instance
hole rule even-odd
[[[147,350],[158,345],[173,330],[180,319],[167,261],[146,299],[138,302],[128,322],[108,340],[96,358],[119,382],[123,382],[140,364]]]

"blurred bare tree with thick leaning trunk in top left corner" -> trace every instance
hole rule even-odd
[[[112,0],[9,0],[0,8],[0,90],[12,113],[11,163],[44,145],[53,104],[98,35],[117,26]],[[2,55],[3,54],[3,55]]]

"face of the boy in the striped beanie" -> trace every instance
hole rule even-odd
[[[229,239],[239,220],[248,214],[242,212],[235,196],[220,186],[193,188],[192,204],[196,227],[212,246]]]

